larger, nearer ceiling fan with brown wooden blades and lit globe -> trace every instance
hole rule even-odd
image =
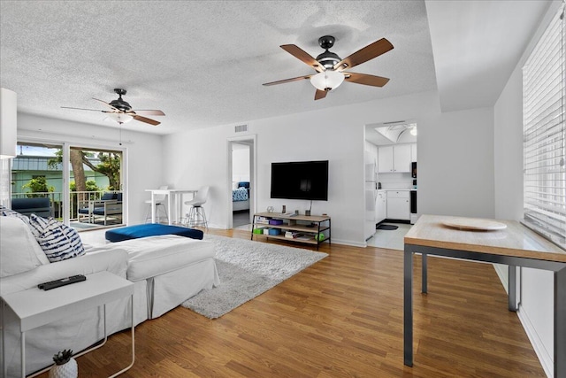
[[[379,41],[373,42],[365,46],[361,50],[357,50],[348,58],[340,58],[338,55],[329,51],[334,45],[334,37],[332,35],[325,35],[318,38],[318,44],[325,49],[325,52],[318,55],[317,58],[312,58],[307,52],[297,47],[294,44],[281,45],[281,49],[286,50],[294,58],[301,60],[303,63],[314,68],[317,73],[310,75],[303,75],[291,79],[266,82],[264,85],[283,84],[291,81],[300,81],[310,79],[310,83],[317,89],[315,93],[315,100],[325,98],[326,93],[332,89],[338,88],[343,81],[355,82],[356,84],[370,85],[372,87],[383,87],[389,79],[381,76],[374,76],[366,73],[350,73],[345,71],[349,68],[361,65],[373,58],[385,54],[387,51],[393,49],[393,44],[387,41],[386,38],[381,38]]]

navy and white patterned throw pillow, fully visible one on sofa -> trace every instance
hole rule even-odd
[[[31,214],[29,227],[50,262],[85,254],[79,233],[53,218],[45,219]]]

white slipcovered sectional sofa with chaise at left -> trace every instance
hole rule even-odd
[[[180,305],[201,289],[218,285],[214,246],[210,242],[177,235],[151,236],[119,243],[105,243],[103,234],[85,233],[86,254],[50,263],[42,256],[27,224],[15,217],[0,216],[0,297],[42,282],[73,274],[108,271],[134,282],[134,322],[154,319]],[[94,237],[97,236],[97,237]],[[82,238],[82,237],[81,237]],[[55,289],[57,290],[57,289]],[[4,305],[2,305],[4,309]],[[130,327],[129,298],[106,306],[109,335]],[[8,376],[20,370],[19,329],[10,310],[4,320]],[[26,371],[32,373],[52,363],[63,349],[75,352],[103,339],[103,311],[93,309],[62,319],[26,334]],[[4,372],[4,366],[2,366]]]

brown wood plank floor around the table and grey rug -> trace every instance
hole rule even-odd
[[[218,320],[177,307],[143,322],[136,362],[122,376],[545,376],[493,266],[429,257],[429,294],[415,285],[410,368],[402,355],[402,251],[323,245],[329,257]],[[417,257],[415,282],[419,269]],[[129,348],[129,331],[111,336],[78,359],[79,376],[118,371]]]

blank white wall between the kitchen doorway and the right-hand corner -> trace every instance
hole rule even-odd
[[[493,109],[417,124],[418,213],[493,218]]]

